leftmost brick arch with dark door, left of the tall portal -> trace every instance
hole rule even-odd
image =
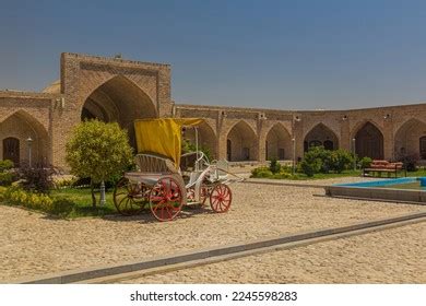
[[[27,139],[29,138],[33,140],[31,143],[32,161],[44,164],[49,163],[50,146],[48,132],[36,118],[23,109],[13,113],[0,122],[0,160],[13,155],[16,158],[14,160],[15,163],[27,161],[29,154]],[[8,139],[15,139],[13,142],[19,145],[14,145],[15,149],[11,149],[12,141]],[[11,150],[19,150],[19,152],[12,154]]]

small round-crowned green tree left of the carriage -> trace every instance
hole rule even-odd
[[[132,148],[118,123],[88,120],[78,125],[66,146],[71,173],[91,178],[92,204],[96,207],[94,185],[121,174],[132,162]]]

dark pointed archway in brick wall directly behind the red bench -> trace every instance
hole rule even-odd
[[[366,122],[355,134],[355,152],[358,157],[383,158],[383,134],[371,122]]]

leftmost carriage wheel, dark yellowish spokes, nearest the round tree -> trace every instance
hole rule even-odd
[[[146,203],[146,187],[142,184],[131,183],[122,177],[114,189],[114,204],[122,215],[133,215],[139,213]]]

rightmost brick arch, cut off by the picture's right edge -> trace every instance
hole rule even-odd
[[[394,156],[413,155],[426,160],[426,123],[411,118],[403,122],[394,134]]]

